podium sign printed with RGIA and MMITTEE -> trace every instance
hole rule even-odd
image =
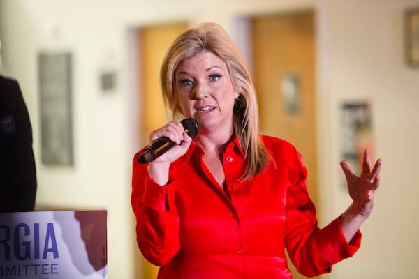
[[[106,211],[0,213],[0,279],[106,279]]]

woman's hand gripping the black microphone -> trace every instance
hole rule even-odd
[[[168,137],[172,142],[175,142],[175,146],[150,162],[148,173],[154,182],[164,186],[168,183],[170,164],[188,151],[192,139],[184,131],[184,127],[179,121],[170,121],[165,126],[152,131],[149,135],[150,145],[160,137]]]

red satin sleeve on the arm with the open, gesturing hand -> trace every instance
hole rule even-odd
[[[290,171],[294,179],[287,193],[285,244],[297,271],[313,277],[330,272],[333,264],[351,257],[360,247],[361,234],[358,230],[347,243],[340,217],[323,229],[318,228],[316,209],[307,192],[307,170],[299,153],[296,158],[297,167]]]

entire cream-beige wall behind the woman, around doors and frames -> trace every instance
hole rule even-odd
[[[133,278],[136,250],[129,204],[138,81],[129,29],[186,20],[216,21],[238,38],[235,17],[290,8],[318,13],[318,131],[321,225],[348,205],[339,183],[339,105],[369,100],[376,153],[384,160],[376,210],[355,257],[333,279],[419,278],[419,70],[403,59],[402,15],[419,0],[103,1],[0,0],[1,73],[20,81],[34,128],[38,208],[108,209],[109,278]],[[130,43],[131,42],[131,43]],[[74,167],[40,161],[36,57],[73,54]],[[117,92],[103,96],[98,72],[117,70]]]

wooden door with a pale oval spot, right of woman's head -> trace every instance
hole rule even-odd
[[[317,206],[314,13],[253,17],[251,41],[262,132],[302,153],[307,188]],[[289,266],[293,278],[305,278]]]

